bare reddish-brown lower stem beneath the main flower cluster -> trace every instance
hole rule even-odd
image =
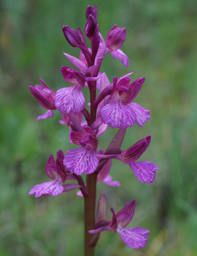
[[[92,234],[88,233],[88,230],[94,229],[95,221],[95,203],[96,203],[96,179],[97,174],[92,173],[86,176],[86,188],[89,196],[84,197],[85,209],[84,209],[84,226],[85,226],[85,246],[84,256],[93,256],[94,247],[89,247]]]

